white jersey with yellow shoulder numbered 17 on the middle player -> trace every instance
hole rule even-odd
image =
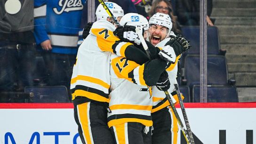
[[[109,108],[112,112],[108,113],[108,126],[125,122],[139,122],[145,126],[152,126],[152,93],[143,82],[144,65],[116,55],[112,55],[111,59]],[[134,72],[137,84],[128,78],[128,73],[134,68],[137,69],[134,70],[137,71]]]

